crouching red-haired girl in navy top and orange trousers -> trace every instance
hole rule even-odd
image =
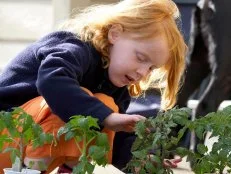
[[[112,146],[108,130],[132,132],[144,119],[125,114],[130,97],[158,87],[162,109],[174,106],[186,54],[178,18],[171,0],[124,0],[86,9],[4,69],[0,110],[21,106],[48,132],[57,132],[72,115],[91,115],[107,128]],[[52,153],[27,147],[26,165],[43,159],[52,170],[79,155],[62,143],[49,146]]]

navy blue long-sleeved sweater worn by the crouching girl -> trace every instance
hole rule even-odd
[[[90,43],[70,32],[54,32],[23,50],[0,74],[0,110],[41,95],[65,122],[81,114],[102,123],[113,111],[80,86],[112,96],[121,113],[130,103],[127,87],[110,82],[101,55]]]

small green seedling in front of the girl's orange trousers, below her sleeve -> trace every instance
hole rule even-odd
[[[108,138],[105,133],[99,132],[97,119],[91,116],[72,116],[70,121],[58,131],[58,138],[65,134],[65,140],[74,138],[81,156],[73,173],[93,173],[96,165],[107,164],[106,154],[109,151]]]

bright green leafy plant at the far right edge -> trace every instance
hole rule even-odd
[[[198,144],[195,152],[182,147],[177,149],[179,155],[187,156],[188,161],[191,161],[195,173],[222,174],[225,167],[231,168],[231,106],[200,117],[190,122],[187,127],[195,131],[196,136],[201,140],[207,132],[211,132],[209,138],[218,137],[211,151],[204,144]]]

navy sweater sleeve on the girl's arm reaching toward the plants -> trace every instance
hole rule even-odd
[[[91,64],[89,50],[77,39],[60,40],[51,40],[36,51],[41,61],[37,90],[63,121],[67,122],[73,115],[90,115],[102,124],[113,111],[80,88],[80,81]]]

